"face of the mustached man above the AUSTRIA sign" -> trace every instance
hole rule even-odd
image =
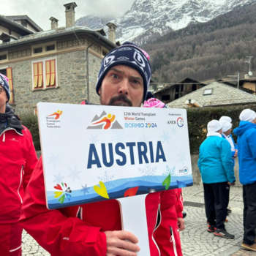
[[[123,65],[112,67],[99,89],[101,105],[140,107],[143,102],[143,78],[140,73]]]

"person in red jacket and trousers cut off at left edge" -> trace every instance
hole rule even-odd
[[[0,254],[20,256],[22,227],[18,219],[37,154],[31,133],[7,105],[9,99],[8,78],[0,74]]]

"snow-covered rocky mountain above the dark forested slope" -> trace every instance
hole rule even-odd
[[[111,22],[118,26],[117,40],[138,42],[141,45],[146,39],[183,29],[191,23],[207,22],[235,7],[252,2],[256,0],[135,0],[128,12]],[[91,29],[96,29],[96,22],[87,24]],[[103,27],[105,24],[100,25]]]

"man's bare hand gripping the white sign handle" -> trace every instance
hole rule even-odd
[[[136,256],[136,252],[140,251],[137,245],[138,238],[128,231],[105,231],[105,235],[107,237],[106,256]]]

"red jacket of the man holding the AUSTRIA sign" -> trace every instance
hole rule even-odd
[[[152,195],[159,193],[161,192]],[[175,209],[178,196],[174,190],[170,193],[174,197],[170,197],[167,201]],[[146,208],[152,210],[147,209],[148,228],[154,229],[157,221],[156,201],[149,202],[148,206],[146,202]],[[151,222],[151,219],[154,221]],[[121,215],[117,200],[48,210],[45,202],[42,158],[40,158],[26,189],[20,225],[52,256],[105,256],[107,245],[103,231],[121,230]],[[151,256],[156,255],[158,254],[151,254]]]

